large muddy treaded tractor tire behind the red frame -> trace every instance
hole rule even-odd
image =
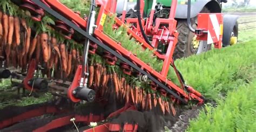
[[[201,10],[201,13],[208,13],[206,7]],[[197,17],[191,18],[191,24],[194,29],[197,28]],[[179,36],[178,43],[173,52],[174,60],[189,57],[192,54],[197,54],[198,49],[193,48],[192,41],[194,38],[194,33],[190,31],[187,25],[187,19],[177,19],[177,27],[176,27]],[[207,45],[207,51],[211,50],[211,45]]]

